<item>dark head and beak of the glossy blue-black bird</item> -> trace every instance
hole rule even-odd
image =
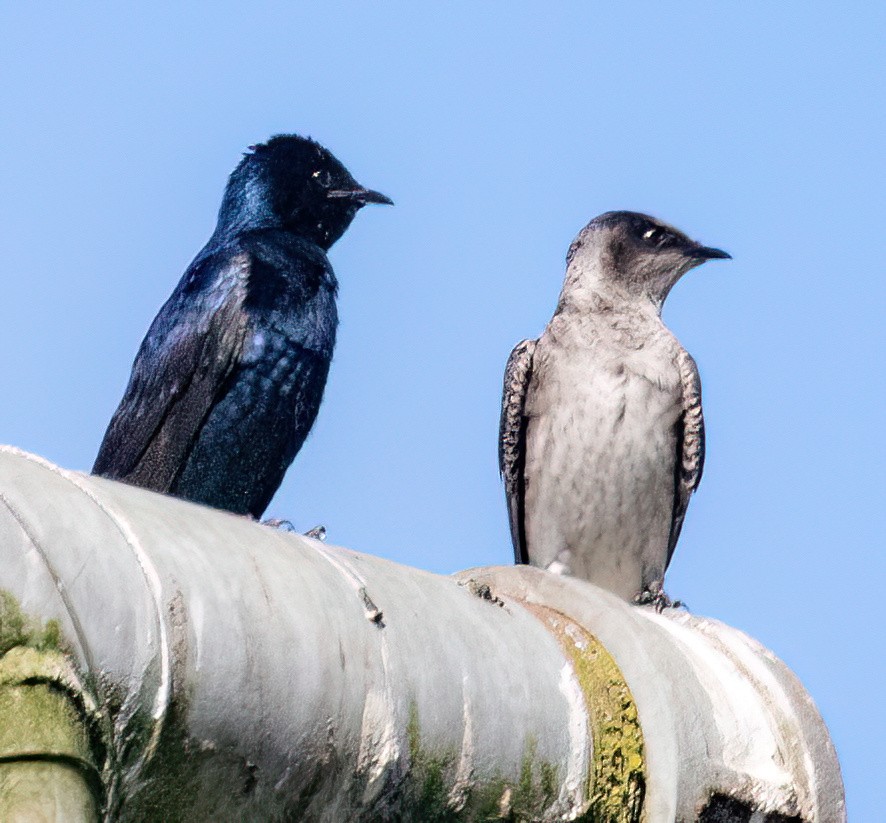
[[[279,134],[250,146],[228,181],[219,220],[277,225],[328,249],[367,203],[391,202],[357,183],[319,143]]]

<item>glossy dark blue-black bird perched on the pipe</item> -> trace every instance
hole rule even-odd
[[[326,385],[338,325],[326,252],[367,203],[391,201],[313,140],[250,147],[142,342],[93,473],[260,517]]]

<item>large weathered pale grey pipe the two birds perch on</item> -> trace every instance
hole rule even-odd
[[[108,818],[845,817],[768,652],[537,569],[432,575],[5,448],[0,589],[57,621]]]

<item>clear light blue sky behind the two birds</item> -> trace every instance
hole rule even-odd
[[[627,208],[729,250],[665,307],[708,432],[668,590],[794,668],[850,818],[879,818],[886,6],[4,2],[0,27],[0,440],[67,467],[276,132],[397,205],[332,250],[336,358],[269,513],[434,571],[510,562],[501,374],[576,232]]]

